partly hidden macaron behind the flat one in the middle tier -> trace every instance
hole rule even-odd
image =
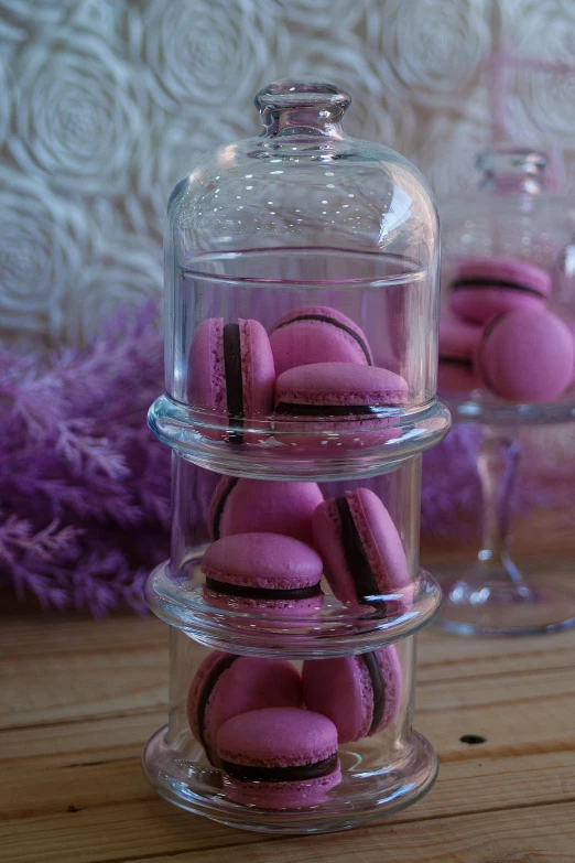
[[[209,506],[211,540],[231,533],[284,533],[312,542],[312,516],[324,496],[317,483],[223,476]]]

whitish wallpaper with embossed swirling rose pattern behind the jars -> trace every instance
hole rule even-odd
[[[574,34],[575,0],[0,0],[0,335],[82,343],[159,294],[172,185],[258,131],[274,78],[340,82],[348,131],[441,193],[493,136],[575,180]],[[502,51],[538,63],[503,64],[496,93]]]

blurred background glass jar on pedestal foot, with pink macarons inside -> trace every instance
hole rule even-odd
[[[477,164],[479,187],[441,207],[438,388],[457,422],[484,430],[484,530],[477,560],[438,573],[440,624],[464,635],[554,632],[575,625],[575,579],[545,561],[520,571],[510,504],[521,430],[575,418],[572,216],[546,187],[544,153],[501,144]]]

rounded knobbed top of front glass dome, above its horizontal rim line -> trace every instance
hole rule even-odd
[[[433,265],[437,217],[426,181],[393,150],[344,132],[350,101],[312,78],[260,90],[260,136],[207,153],[172,193],[178,257],[315,246]]]

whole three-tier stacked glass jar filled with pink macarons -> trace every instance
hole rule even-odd
[[[424,180],[341,130],[349,96],[282,80],[259,138],[207,154],[169,203],[172,627],[153,787],[270,832],[349,828],[417,799],[421,453],[437,401],[438,231]],[[202,468],[208,468],[207,471]],[[219,475],[218,475],[219,474]]]

